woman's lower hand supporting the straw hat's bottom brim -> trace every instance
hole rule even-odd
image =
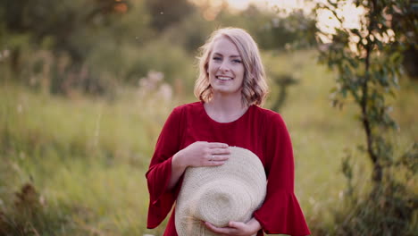
[[[208,222],[205,222],[205,226],[212,232],[230,236],[250,236],[261,229],[260,223],[255,218],[252,218],[248,223],[230,222],[228,227],[223,228],[216,227]]]

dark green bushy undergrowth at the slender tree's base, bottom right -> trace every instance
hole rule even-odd
[[[418,146],[414,144],[398,156],[396,164],[385,168],[389,174],[380,185],[373,185],[371,193],[362,193],[359,186],[366,176],[353,170],[353,156],[348,152],[342,163],[348,188],[343,204],[333,210],[337,225],[330,235],[414,235],[418,198],[412,188],[417,158]]]

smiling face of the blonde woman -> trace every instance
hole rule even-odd
[[[207,72],[213,94],[239,94],[244,80],[244,63],[229,38],[216,38],[209,56]]]

